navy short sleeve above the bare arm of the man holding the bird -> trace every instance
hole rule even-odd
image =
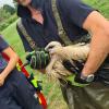
[[[86,17],[95,11],[95,9],[83,3],[81,0],[63,0],[64,9],[68,11],[70,21],[78,27],[83,27]]]

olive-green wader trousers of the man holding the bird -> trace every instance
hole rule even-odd
[[[102,83],[84,88],[63,84],[61,89],[69,109],[109,109],[109,86]]]

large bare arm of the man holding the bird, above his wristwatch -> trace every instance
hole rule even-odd
[[[95,73],[109,55],[109,21],[94,11],[85,20],[83,27],[92,34],[90,51],[82,73]]]

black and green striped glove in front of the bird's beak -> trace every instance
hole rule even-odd
[[[31,55],[26,57],[26,60],[29,61],[32,69],[43,70],[48,65],[50,57],[46,50],[39,49],[37,51],[31,52]]]

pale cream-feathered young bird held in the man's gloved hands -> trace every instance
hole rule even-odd
[[[51,41],[45,48],[50,53],[50,63],[46,68],[47,75],[49,78],[63,78],[70,76],[73,72],[68,71],[63,66],[63,61],[69,60],[73,65],[73,60],[83,60],[87,59],[89,52],[89,44],[77,44],[72,46],[63,47],[58,41]]]

